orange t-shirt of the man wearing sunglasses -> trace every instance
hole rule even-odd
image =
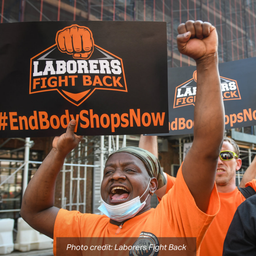
[[[173,177],[167,174],[167,188],[166,193],[170,190],[168,182],[173,184]],[[246,187],[251,186],[256,191],[256,180],[247,182]],[[221,208],[209,229],[205,234],[205,238],[201,243],[200,256],[222,256],[223,243],[227,235],[229,225],[234,217],[236,208],[245,200],[242,193],[235,188],[229,193],[220,193],[219,199],[221,202]]]

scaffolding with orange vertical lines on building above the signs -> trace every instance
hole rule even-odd
[[[190,66],[177,47],[178,25],[209,21],[219,62],[256,57],[256,0],[0,0],[1,23],[50,20],[166,21],[168,66]]]

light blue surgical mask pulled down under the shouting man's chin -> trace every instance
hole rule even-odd
[[[147,192],[148,188],[149,185],[147,186],[147,189],[143,193],[143,195]],[[141,197],[143,197],[143,195]],[[146,200],[143,203],[141,203],[141,197],[137,196],[131,199],[130,201],[121,203],[119,205],[109,205],[103,201],[103,204],[100,207],[98,207],[98,209],[110,219],[122,222],[125,221],[126,219],[134,217],[145,206],[146,200],[148,199],[149,195],[147,196]]]

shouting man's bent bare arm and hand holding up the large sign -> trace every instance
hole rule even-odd
[[[82,140],[74,134],[75,120],[68,124],[66,133],[53,140],[53,149],[27,185],[21,204],[21,217],[37,231],[53,238],[59,208],[54,207],[57,176],[67,154]]]

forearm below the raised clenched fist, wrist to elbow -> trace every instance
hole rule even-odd
[[[218,70],[218,55],[197,61],[197,94],[194,111],[193,147],[217,159],[224,135],[224,105]]]

